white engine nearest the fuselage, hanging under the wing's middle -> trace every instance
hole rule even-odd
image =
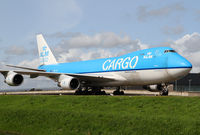
[[[71,76],[61,75],[58,80],[58,86],[65,90],[76,90],[80,87],[80,81]]]

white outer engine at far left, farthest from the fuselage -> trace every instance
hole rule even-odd
[[[8,72],[5,76],[5,83],[10,86],[19,86],[24,81],[24,77],[21,74],[17,74],[13,71]]]

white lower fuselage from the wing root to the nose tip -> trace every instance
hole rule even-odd
[[[154,69],[118,72],[126,81],[123,85],[150,85],[175,81],[190,72],[190,68]]]

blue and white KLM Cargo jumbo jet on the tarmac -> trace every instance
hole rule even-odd
[[[145,49],[119,57],[58,63],[41,34],[37,35],[37,44],[38,69],[8,65],[23,71],[0,70],[5,83],[19,86],[24,80],[23,75],[30,78],[45,76],[64,90],[76,90],[76,94],[105,93],[101,91],[104,87],[116,87],[114,94],[123,94],[121,86],[141,85],[168,95],[168,84],[192,69],[192,64],[170,47]]]

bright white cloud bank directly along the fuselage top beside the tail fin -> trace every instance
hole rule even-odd
[[[146,49],[148,45],[142,44],[139,40],[130,45],[113,46],[112,48],[71,48],[58,56],[59,62],[72,62],[91,60],[98,58],[116,57],[140,49]]]

